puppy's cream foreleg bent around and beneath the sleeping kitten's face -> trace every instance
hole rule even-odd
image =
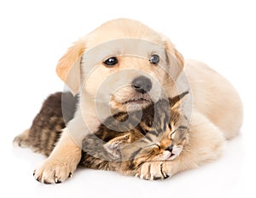
[[[137,177],[149,180],[171,177],[173,174],[199,167],[217,159],[222,153],[224,134],[206,116],[194,112],[189,144],[173,161],[148,161],[137,170]]]

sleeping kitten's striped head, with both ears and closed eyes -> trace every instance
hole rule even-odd
[[[187,93],[182,93],[169,101],[159,101],[160,110],[170,110],[171,113],[155,115],[157,122],[148,130],[142,138],[131,131],[113,138],[104,144],[105,150],[113,158],[130,161],[131,165],[138,167],[145,161],[169,161],[175,159],[189,139],[188,120],[181,114],[181,100]],[[156,109],[158,110],[158,109]],[[143,125],[143,123],[140,123]],[[139,138],[138,138],[139,137]],[[131,166],[131,167],[132,167]]]

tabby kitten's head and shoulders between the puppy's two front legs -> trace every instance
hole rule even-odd
[[[189,139],[189,122],[182,116],[182,93],[172,99],[160,99],[143,110],[122,112],[114,115],[115,121],[107,119],[96,133],[87,135],[83,140],[83,155],[80,164],[102,170],[118,171],[125,175],[136,175],[146,161],[172,161]],[[125,122],[129,119],[125,125]],[[134,122],[136,127],[123,133],[110,128],[129,128]],[[165,178],[168,176],[166,175]],[[158,178],[153,178],[158,179]]]

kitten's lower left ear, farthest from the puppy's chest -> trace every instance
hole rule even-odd
[[[131,143],[130,133],[109,140],[108,143],[104,144],[104,148],[117,159],[121,155],[119,150],[127,143]]]

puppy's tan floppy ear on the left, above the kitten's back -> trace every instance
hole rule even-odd
[[[84,40],[74,42],[73,46],[59,60],[56,67],[57,75],[67,84],[74,95],[79,92],[80,59],[84,53],[84,48]]]

